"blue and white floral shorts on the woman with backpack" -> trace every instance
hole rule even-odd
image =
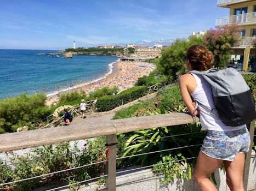
[[[237,153],[248,152],[250,144],[247,128],[228,132],[208,130],[201,151],[212,158],[233,161]]]

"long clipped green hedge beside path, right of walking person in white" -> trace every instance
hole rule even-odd
[[[98,98],[95,107],[98,111],[109,111],[117,106],[132,102],[135,99],[143,97],[147,94],[148,88],[146,86],[134,86],[126,91],[116,94],[116,96],[104,96]]]

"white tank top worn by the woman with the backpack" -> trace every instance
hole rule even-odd
[[[212,97],[212,87],[209,85],[209,83],[203,79],[202,76],[198,76],[196,74],[192,74],[197,83],[197,87],[194,92],[192,92],[191,96],[193,99],[197,100],[198,102],[202,103],[203,105],[207,106],[208,108],[212,110],[215,109],[215,105],[213,102]],[[208,111],[203,109],[199,105],[200,110],[200,121],[202,125],[203,130],[217,130],[217,131],[231,131],[231,130],[237,130],[242,129],[246,127],[246,125],[238,126],[238,127],[230,127],[226,126],[219,117],[214,116],[213,114],[209,114]]]

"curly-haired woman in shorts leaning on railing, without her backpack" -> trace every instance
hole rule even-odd
[[[202,45],[191,46],[184,57],[187,69],[205,71],[212,67],[213,53]],[[250,136],[246,125],[226,126],[219,117],[209,114],[199,105],[195,110],[193,99],[215,110],[212,88],[202,76],[187,73],[179,79],[181,97],[191,115],[199,115],[207,135],[203,140],[193,177],[201,190],[217,190],[209,176],[224,163],[226,183],[231,190],[244,190],[244,155],[249,150]],[[195,110],[195,111],[194,111]]]

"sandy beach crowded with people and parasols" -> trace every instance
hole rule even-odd
[[[113,63],[112,73],[100,79],[96,79],[85,84],[78,85],[72,89],[60,92],[60,94],[83,90],[86,94],[92,93],[95,89],[108,87],[118,87],[120,92],[133,87],[139,77],[148,76],[150,71],[155,69],[155,65],[141,61],[119,61]],[[45,104],[51,105],[58,102],[57,94],[48,96]]]

